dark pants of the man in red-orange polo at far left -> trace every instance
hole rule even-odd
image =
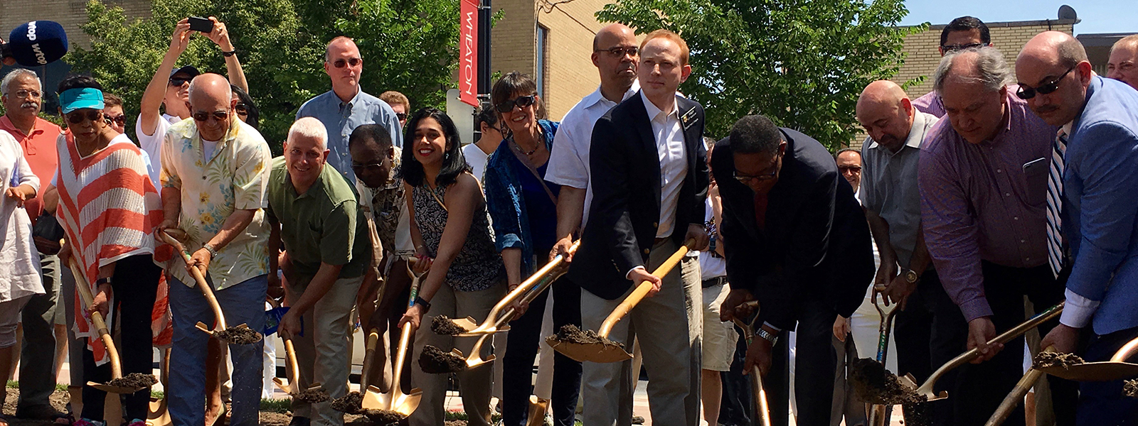
[[[26,410],[52,410],[48,398],[56,391],[56,299],[59,294],[59,264],[56,254],[40,253],[43,294],[34,294],[20,312],[24,342],[19,350],[19,402],[17,416]],[[63,339],[63,336],[60,336]]]

